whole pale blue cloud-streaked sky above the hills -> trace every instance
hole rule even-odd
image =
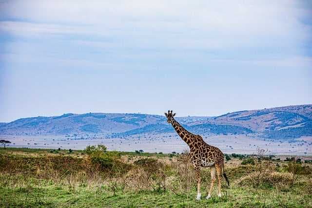
[[[0,0],[0,122],[312,103],[312,3]]]

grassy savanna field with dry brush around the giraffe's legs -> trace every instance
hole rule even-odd
[[[206,200],[202,169],[198,202],[187,154],[103,152],[0,148],[0,207],[312,207],[308,157],[228,155],[230,187]]]

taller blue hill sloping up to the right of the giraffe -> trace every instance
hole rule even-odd
[[[249,129],[267,138],[297,138],[312,135],[312,105],[239,111],[195,121],[191,126],[225,125]]]

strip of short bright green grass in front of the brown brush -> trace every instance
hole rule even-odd
[[[2,176],[3,177],[3,176]],[[3,181],[1,180],[1,183]],[[36,184],[36,185],[34,185]],[[195,189],[179,196],[170,191],[118,191],[108,187],[69,189],[46,180],[29,180],[27,185],[0,187],[0,207],[311,207],[311,195],[297,190],[278,192],[274,189],[231,187],[228,196],[195,201]]]

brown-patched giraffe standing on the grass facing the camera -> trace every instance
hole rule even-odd
[[[200,168],[201,167],[210,167],[211,174],[211,183],[210,189],[206,199],[211,198],[211,192],[214,188],[215,183],[215,172],[218,176],[218,197],[221,197],[221,182],[222,182],[222,174],[228,184],[230,186],[229,180],[224,172],[224,158],[223,152],[218,148],[207,144],[200,135],[195,135],[191,132],[188,132],[184,129],[174,118],[176,113],[172,113],[172,111],[168,111],[165,113],[167,117],[167,122],[170,123],[177,134],[188,144],[190,147],[190,159],[195,169],[195,176],[197,180],[197,197],[196,200],[200,200],[201,192],[200,192]]]

